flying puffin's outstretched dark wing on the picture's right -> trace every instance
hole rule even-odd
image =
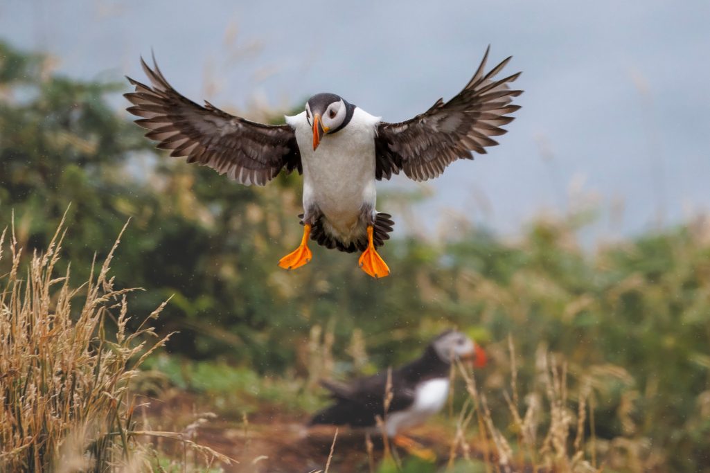
[[[508,87],[520,72],[493,80],[510,58],[484,75],[488,50],[474,77],[449,102],[439,99],[413,119],[378,125],[377,179],[389,179],[400,170],[413,180],[435,178],[457,159],[473,159],[471,151],[484,154],[486,146],[498,144],[490,136],[506,133],[500,127],[513,121],[508,114],[520,108],[510,102],[523,91]]]

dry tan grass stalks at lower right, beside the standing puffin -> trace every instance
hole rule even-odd
[[[593,412],[589,406],[589,381],[581,381],[580,386],[575,386],[577,406],[573,409],[569,399],[567,364],[547,350],[540,349],[535,360],[538,386],[525,396],[527,406],[521,410],[515,349],[511,339],[508,345],[510,391],[501,393],[508,406],[507,417],[510,419],[506,428],[496,426],[494,418],[500,424],[499,419],[503,416],[501,413],[491,415],[486,395],[477,386],[474,372],[457,363],[469,400],[459,415],[449,465],[453,464],[457,451],[462,452],[464,460],[472,461],[465,433],[472,418],[476,417],[479,423],[477,435],[480,437],[476,443],[486,446],[483,449],[486,472],[505,473],[521,469],[531,472],[601,471],[596,464],[594,430],[589,444],[584,438],[587,410]]]

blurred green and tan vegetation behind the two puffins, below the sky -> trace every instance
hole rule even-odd
[[[41,55],[0,43],[0,227],[14,212],[21,246],[43,249],[71,203],[64,249],[85,279],[130,218],[114,284],[146,288],[131,296],[145,313],[173,295],[160,331],[180,332],[174,356],[231,366],[241,378],[215,371],[229,389],[246,390],[255,373],[310,389],[314,376],[411,359],[457,325],[488,348],[481,382],[504,405],[510,335],[523,359],[550,350],[589,382],[600,440],[638,440],[634,455],[657,471],[710,471],[707,222],[594,251],[580,248],[575,218],[541,219],[515,242],[459,226],[444,241],[389,242],[393,274],[381,281],[356,256],[315,247],[314,261],[285,272],[276,262],[300,239],[300,178],[243,187],[153,151],[109,106],[127,89],[60,77]],[[406,205],[378,207],[396,219]],[[329,362],[314,356],[323,347]],[[175,363],[151,366],[160,362]],[[534,366],[520,366],[520,383],[535,384]],[[190,371],[184,386],[199,390],[205,373]]]

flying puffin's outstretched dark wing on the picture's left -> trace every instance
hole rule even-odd
[[[153,58],[153,69],[141,58],[151,86],[127,77],[135,92],[124,94],[128,111],[146,136],[170,156],[187,156],[241,184],[265,185],[282,168],[302,172],[300,152],[288,125],[265,125],[223,112],[205,101],[204,107],[183,97],[165,80]]]

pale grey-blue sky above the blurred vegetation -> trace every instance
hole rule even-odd
[[[596,202],[590,232],[603,239],[710,209],[709,23],[701,0],[0,4],[0,38],[48,50],[75,77],[142,80],[152,47],[197,102],[335,92],[386,121],[452,97],[490,43],[526,91],[501,146],[398,185],[432,190],[421,210],[436,221],[459,213],[503,234]]]

